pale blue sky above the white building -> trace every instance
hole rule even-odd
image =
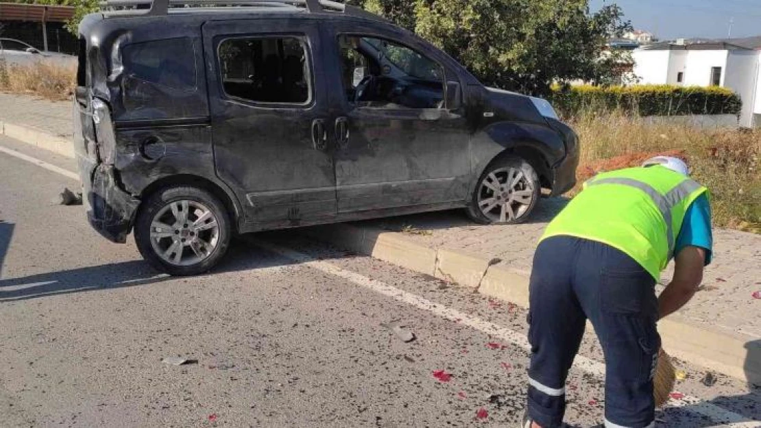
[[[761,36],[761,0],[590,0],[591,11],[616,3],[637,30],[661,40]]]

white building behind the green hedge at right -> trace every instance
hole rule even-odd
[[[654,43],[632,57],[639,84],[727,87],[743,101],[740,126],[761,127],[761,36]]]

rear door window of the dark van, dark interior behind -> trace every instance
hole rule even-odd
[[[308,103],[310,78],[304,46],[297,37],[222,41],[218,55],[224,93],[257,103]]]

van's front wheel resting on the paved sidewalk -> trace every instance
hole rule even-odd
[[[500,157],[479,177],[468,204],[478,224],[519,224],[537,206],[542,192],[537,170],[520,157]]]

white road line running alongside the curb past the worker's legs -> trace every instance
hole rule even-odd
[[[328,262],[322,262],[311,257],[310,255],[296,252],[294,250],[287,249],[282,246],[277,246],[272,243],[267,243],[261,239],[249,238],[248,240],[262,249],[266,249],[270,252],[275,252],[279,255],[284,256],[285,258],[290,258],[291,260],[298,262],[301,265],[317,269],[318,271],[340,277],[347,281],[351,281],[353,284],[357,284],[376,293],[389,296],[394,300],[398,300],[410,306],[416,306],[419,309],[432,312],[434,315],[438,315],[441,318],[449,319],[451,321],[459,320],[459,323],[462,325],[467,325],[469,327],[475,328],[476,330],[483,331],[486,334],[501,338],[505,341],[508,341],[515,347],[521,347],[523,350],[530,351],[531,349],[526,336],[524,336],[524,334],[518,333],[517,331],[501,327],[500,325],[496,325],[492,322],[483,321],[482,319],[478,319],[474,316],[460,312],[457,309],[452,309],[447,306],[442,306],[441,304],[431,302],[431,300],[427,300],[416,294],[409,293],[405,290],[400,290],[396,287],[392,287],[382,281],[376,281],[372,278],[365,277],[362,274],[339,268],[338,266]],[[583,357],[581,355],[576,357],[574,366],[577,369],[581,369],[584,372],[590,373],[600,379],[605,376],[605,365],[603,363],[591,360],[590,358]],[[722,407],[717,406],[716,404],[704,402],[699,398],[691,397],[689,395],[686,395],[684,398],[679,400],[671,399],[668,404],[672,407],[689,407],[689,411],[708,417],[714,422],[721,423],[721,426],[727,426],[731,428],[759,428],[759,426],[761,426],[759,421],[750,420],[747,417],[743,417],[740,414],[728,411]]]

